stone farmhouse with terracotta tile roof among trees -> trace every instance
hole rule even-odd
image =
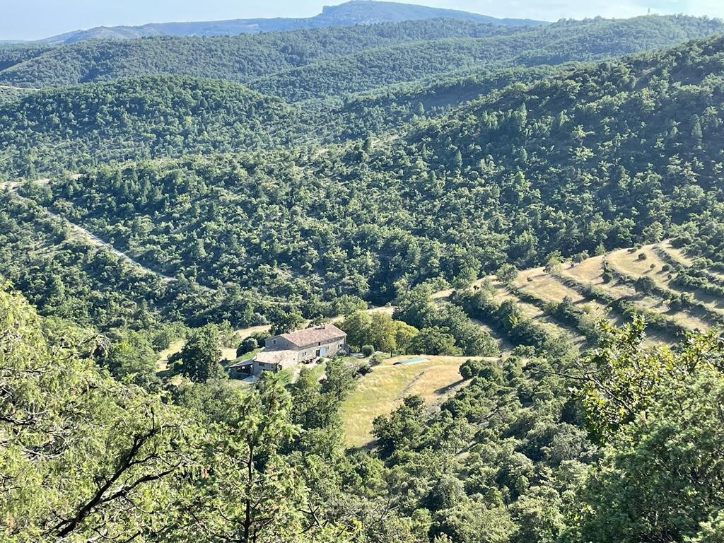
[[[237,363],[232,368],[253,375],[264,371],[282,371],[300,363],[313,363],[323,356],[334,356],[348,352],[347,334],[334,324],[296,330],[288,334],[269,337],[264,349],[251,361]]]

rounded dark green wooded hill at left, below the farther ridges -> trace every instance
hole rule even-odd
[[[113,159],[238,151],[285,143],[297,113],[238,83],[149,76],[39,90],[2,104],[0,164],[54,169]]]

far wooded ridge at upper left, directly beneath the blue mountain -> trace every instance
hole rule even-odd
[[[372,47],[441,38],[481,38],[516,30],[447,19],[216,38],[90,41],[51,48],[27,62],[9,64],[0,72],[0,83],[73,85],[159,73],[244,82]],[[0,54],[2,51],[0,48]],[[12,52],[12,59],[16,57],[17,53]]]

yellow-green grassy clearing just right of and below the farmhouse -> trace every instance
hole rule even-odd
[[[388,358],[359,379],[357,388],[342,404],[345,441],[349,447],[361,447],[371,440],[372,421],[392,412],[403,397],[417,394],[427,403],[440,403],[462,384],[460,365],[470,357],[425,356],[426,362],[400,364],[412,358]],[[497,360],[497,358],[496,358]]]

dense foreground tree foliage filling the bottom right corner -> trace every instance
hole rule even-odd
[[[630,349],[630,339],[619,341]],[[649,368],[659,368],[658,378],[645,379],[645,389],[633,382],[633,374],[628,384],[616,379],[623,386],[610,387],[610,380],[605,381],[607,388],[615,388],[612,398],[633,403],[624,400],[630,415],[607,425],[610,441],[581,491],[583,503],[576,508],[581,516],[568,540],[652,541],[667,534],[673,541],[715,541],[724,500],[716,482],[724,468],[717,439],[724,424],[717,408],[724,395],[721,338],[691,337],[673,357],[632,354],[638,361],[648,358]],[[636,392],[622,395],[623,389]],[[587,410],[594,414],[600,407],[589,404]]]

